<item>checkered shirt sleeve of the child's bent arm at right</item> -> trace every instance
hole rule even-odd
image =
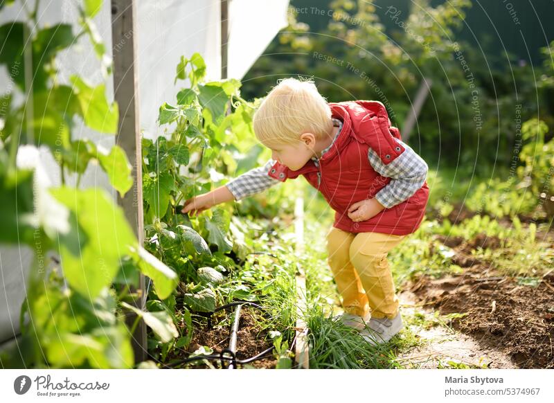
[[[397,138],[395,141],[403,145],[405,150],[386,165],[375,150],[370,148],[368,151],[369,162],[373,169],[384,177],[391,178],[391,181],[375,195],[375,199],[386,208],[409,199],[423,186],[429,170],[427,163],[409,145]]]

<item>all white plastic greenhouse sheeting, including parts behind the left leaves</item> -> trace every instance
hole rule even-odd
[[[229,6],[229,77],[242,78],[280,28],[286,26],[288,0],[230,0]],[[136,1],[138,18],[139,97],[141,127],[150,136],[159,134],[156,124],[158,108],[164,101],[172,101],[177,93],[173,79],[179,57],[190,57],[199,52],[206,60],[209,80],[220,78],[221,23],[220,0],[140,0]],[[13,19],[24,19],[21,1],[6,7],[0,14],[0,24]],[[72,24],[76,34],[77,12],[74,0],[42,0],[39,24]],[[98,32],[107,48],[111,44],[111,7],[105,0],[95,17]],[[96,55],[82,37],[78,46],[60,54],[60,81],[78,73],[97,84],[100,69]],[[113,85],[107,83],[108,97],[113,99]],[[181,83],[183,84],[183,83]],[[10,87],[6,69],[0,68],[0,93]],[[114,144],[114,136],[97,134],[78,122],[73,136],[91,138],[105,147]],[[59,185],[60,172],[46,148],[40,152],[42,164],[54,185]],[[71,179],[69,179],[71,183]],[[90,166],[82,178],[82,186],[102,186],[109,189],[105,174]],[[115,192],[112,192],[115,197]],[[30,265],[27,247],[0,247],[0,343],[19,334],[19,311],[25,296],[25,279]],[[89,269],[93,270],[93,267]]]

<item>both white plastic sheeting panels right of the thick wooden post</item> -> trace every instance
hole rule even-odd
[[[287,26],[288,3],[229,0],[229,78],[242,78],[276,33]],[[174,102],[178,92],[173,78],[181,55],[190,58],[200,53],[206,60],[206,78],[221,78],[221,1],[139,1],[137,5],[141,127],[146,136],[156,138],[161,134],[156,124],[159,106]]]

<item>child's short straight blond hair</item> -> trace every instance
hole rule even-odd
[[[317,139],[332,133],[331,109],[312,80],[285,78],[269,91],[254,114],[254,133],[261,143],[297,143],[310,132]]]

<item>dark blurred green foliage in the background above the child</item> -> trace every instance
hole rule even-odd
[[[289,26],[244,78],[242,94],[259,97],[279,78],[313,77],[329,101],[384,102],[402,129],[425,77],[431,94],[410,145],[429,166],[506,173],[519,111],[521,121],[538,117],[554,125],[546,48],[554,39],[547,17],[553,3],[513,4],[508,10],[502,2],[470,0],[292,1]]]

